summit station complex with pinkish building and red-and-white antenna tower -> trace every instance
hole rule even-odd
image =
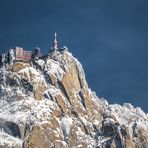
[[[63,48],[58,48],[57,33],[54,34],[54,40],[52,48],[48,52],[48,56],[54,56],[54,53],[59,53],[68,50],[66,46]],[[40,58],[45,58],[47,55],[42,56],[41,49],[36,47],[34,53],[32,51],[24,50],[21,47],[16,47],[14,49],[9,49],[5,54],[0,54],[0,66],[10,64],[12,65],[17,61],[29,62],[31,60],[38,60]]]

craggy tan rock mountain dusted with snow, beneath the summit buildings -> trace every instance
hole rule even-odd
[[[0,147],[146,148],[148,115],[108,104],[67,50],[0,68]]]

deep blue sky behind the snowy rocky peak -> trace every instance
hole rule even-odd
[[[1,0],[1,52],[39,46],[46,54],[54,32],[98,96],[148,112],[147,0]]]

